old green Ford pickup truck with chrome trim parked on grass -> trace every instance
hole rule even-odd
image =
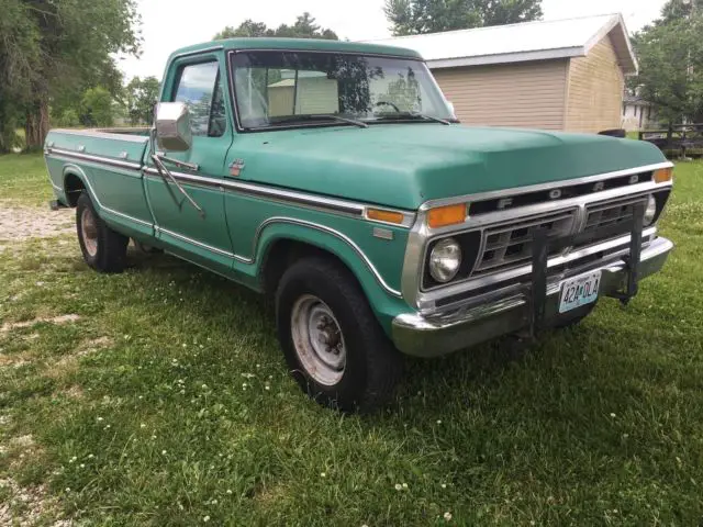
[[[626,303],[672,249],[655,146],[461,125],[398,47],[180,49],[153,128],[53,130],[45,157],[89,266],[122,271],[132,238],[270,295],[290,371],[344,411],[387,401],[402,354]]]

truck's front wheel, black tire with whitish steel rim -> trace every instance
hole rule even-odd
[[[291,374],[320,404],[370,412],[391,399],[402,357],[342,265],[323,257],[293,264],[276,292],[276,323]]]

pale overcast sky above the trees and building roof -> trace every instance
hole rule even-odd
[[[543,0],[545,19],[622,12],[633,32],[654,20],[666,0]],[[291,24],[304,11],[341,38],[362,41],[389,36],[383,0],[138,0],[144,36],[140,59],[121,60],[127,78],[161,77],[170,53],[182,46],[210,41],[225,25],[246,19],[271,27]],[[353,8],[353,9],[352,9]]]

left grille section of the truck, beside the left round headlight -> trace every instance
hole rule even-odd
[[[487,228],[472,274],[479,276],[524,264],[532,258],[536,229],[545,229],[548,238],[558,238],[571,233],[574,221],[576,209]]]

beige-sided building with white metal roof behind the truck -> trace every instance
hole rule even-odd
[[[601,132],[637,71],[620,14],[373,41],[415,49],[467,124]]]

